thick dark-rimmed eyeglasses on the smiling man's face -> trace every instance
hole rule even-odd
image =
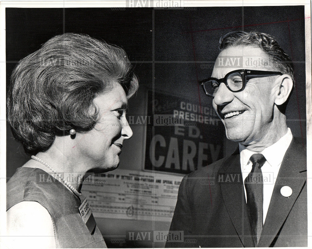
[[[267,77],[271,75],[283,75],[275,71],[259,71],[249,69],[234,70],[225,75],[223,79],[208,78],[200,82],[207,96],[213,97],[221,83],[233,93],[241,92],[245,89],[246,82],[252,78]]]

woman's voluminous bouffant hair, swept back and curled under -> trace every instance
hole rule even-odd
[[[93,99],[114,81],[127,98],[138,89],[123,49],[83,34],[51,38],[13,70],[7,117],[14,137],[34,153],[72,128],[92,129],[98,120]]]

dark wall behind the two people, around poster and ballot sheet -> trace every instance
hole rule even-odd
[[[154,26],[153,26],[154,18]],[[243,27],[242,27],[243,26]],[[288,126],[306,140],[305,33],[303,6],[197,7],[196,10],[126,8],[7,8],[7,85],[18,60],[63,32],[85,33],[119,45],[129,55],[139,76],[139,91],[129,101],[129,115],[146,114],[148,89],[188,98],[211,106],[197,79],[209,77],[219,50],[220,36],[230,31],[271,34],[295,62],[296,89],[287,108]],[[153,37],[154,29],[154,37]],[[153,47],[154,40],[154,47]],[[154,63],[153,63],[154,62]],[[204,66],[202,66],[204,65]],[[199,98],[201,102],[199,102]],[[141,170],[145,156],[144,126],[133,126],[133,138],[124,145],[120,168]],[[222,138],[223,139],[223,138]],[[224,154],[237,146],[224,138]],[[12,139],[7,124],[7,178],[27,160],[22,146]],[[169,223],[99,219],[103,235],[124,235],[126,230],[168,230]],[[125,244],[109,244],[124,247]],[[142,246],[133,244],[131,247]],[[146,245],[145,245],[146,246]]]

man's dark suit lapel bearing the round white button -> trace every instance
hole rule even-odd
[[[285,153],[257,247],[270,247],[305,184],[306,154],[303,155],[300,146],[302,148],[302,144],[293,139]],[[280,193],[283,186],[292,189],[290,197],[284,197]]]

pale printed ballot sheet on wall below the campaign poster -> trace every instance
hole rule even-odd
[[[116,169],[84,182],[94,217],[171,222],[182,177]]]

